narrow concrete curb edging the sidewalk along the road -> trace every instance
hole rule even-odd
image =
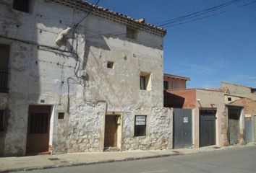
[[[121,161],[134,161],[134,160],[142,160],[142,159],[153,159],[153,158],[161,158],[161,157],[168,157],[168,156],[179,156],[183,155],[182,153],[174,153],[174,154],[160,154],[155,156],[142,156],[142,157],[127,157],[124,159],[109,159],[103,161],[91,161],[91,162],[84,162],[84,163],[74,163],[74,164],[55,164],[55,165],[46,165],[41,167],[25,167],[25,168],[16,168],[16,169],[3,169],[0,170],[0,173],[7,173],[7,172],[26,172],[26,171],[33,171],[33,170],[40,170],[40,169],[53,169],[53,168],[61,168],[61,167],[77,167],[77,166],[85,166],[85,165],[92,165],[92,164],[106,164],[112,162],[121,162]]]

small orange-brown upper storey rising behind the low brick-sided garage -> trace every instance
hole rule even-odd
[[[163,89],[186,89],[189,78],[172,74],[163,75]]]

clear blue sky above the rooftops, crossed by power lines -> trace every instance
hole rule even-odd
[[[101,0],[98,5],[155,24],[228,1]],[[165,73],[190,77],[189,88],[218,87],[221,81],[256,87],[256,3],[166,29]]]

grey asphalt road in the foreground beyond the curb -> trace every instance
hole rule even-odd
[[[64,167],[31,171],[54,173],[252,173],[256,172],[256,147],[233,148],[201,154],[187,154],[157,159],[95,164],[81,167]]]

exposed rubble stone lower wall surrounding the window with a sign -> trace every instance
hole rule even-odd
[[[146,136],[134,136],[135,115],[147,115]],[[124,114],[122,150],[171,149],[172,110],[161,107],[141,108]]]

